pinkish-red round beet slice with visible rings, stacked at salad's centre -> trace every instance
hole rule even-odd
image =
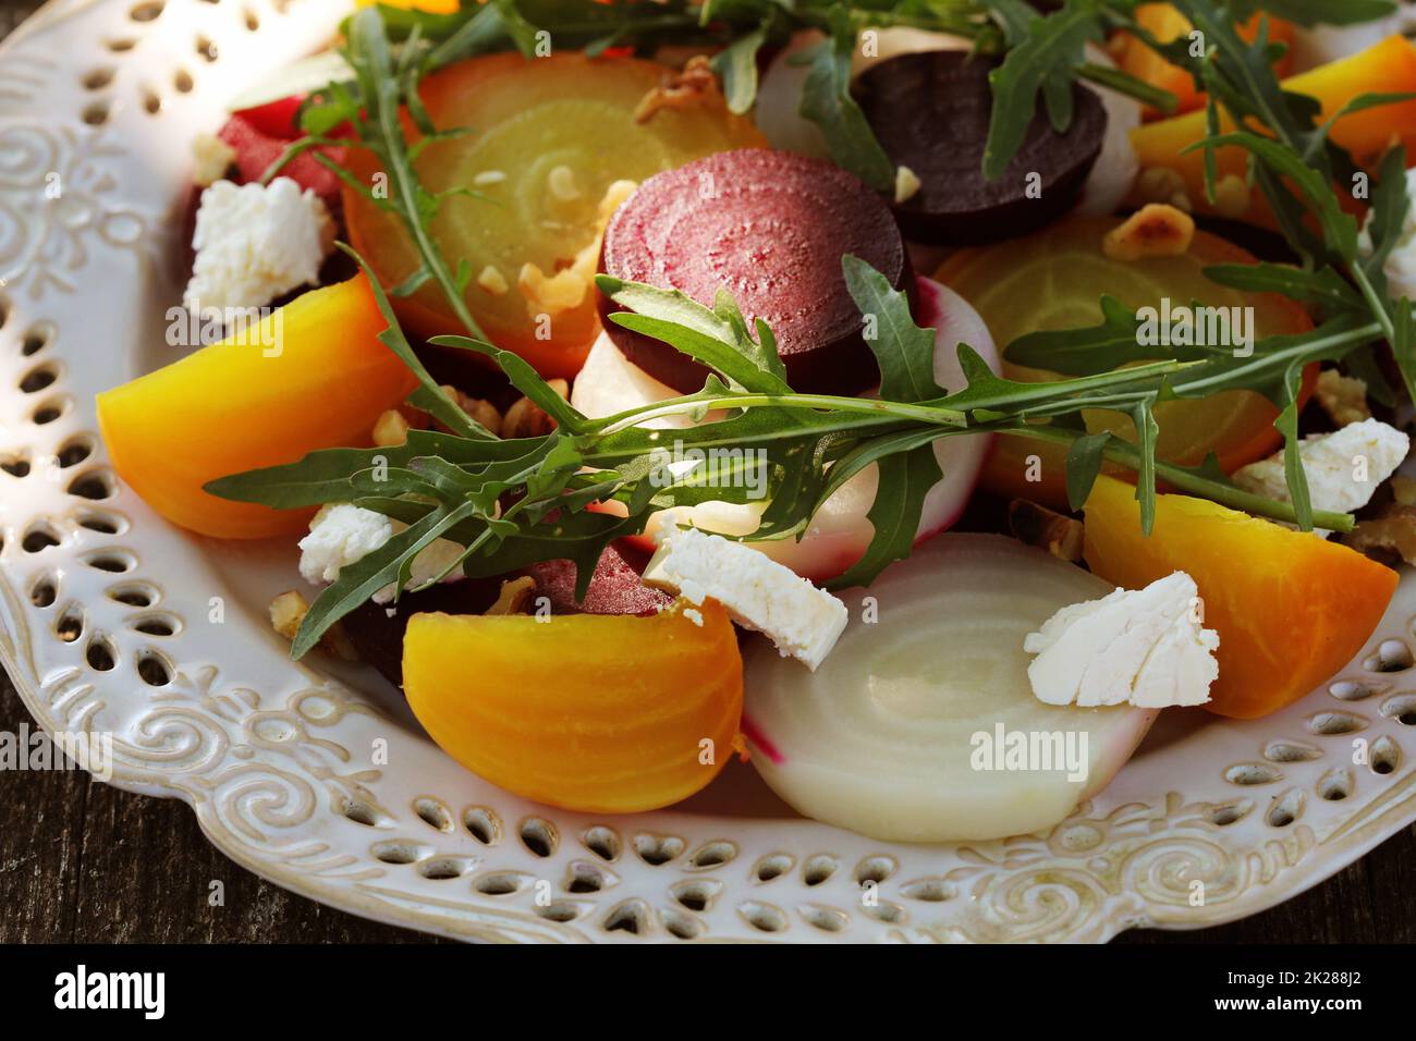
[[[868,261],[896,289],[913,286],[879,195],[830,163],[743,149],[644,181],[606,228],[602,269],[704,305],[726,289],[749,320],[772,326],[796,389],[858,394],[879,377],[845,290],[844,254]],[[602,295],[605,329],[630,361],[680,391],[702,387],[702,365],[607,320],[615,310]]]

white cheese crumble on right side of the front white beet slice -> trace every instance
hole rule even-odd
[[[1028,633],[1028,680],[1049,705],[1202,705],[1219,676],[1219,636],[1195,620],[1195,581],[1184,571],[1144,589],[1062,608]]]

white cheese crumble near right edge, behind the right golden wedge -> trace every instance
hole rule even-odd
[[[1410,438],[1379,419],[1364,419],[1334,431],[1303,439],[1298,455],[1308,477],[1308,497],[1314,510],[1351,513],[1371,501],[1378,484],[1406,459]],[[1233,473],[1245,491],[1289,501],[1289,483],[1283,476],[1283,452]],[[1327,538],[1328,531],[1315,534]]]

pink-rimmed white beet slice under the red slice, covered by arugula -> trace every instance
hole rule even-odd
[[[919,279],[918,320],[922,326],[935,327],[935,380],[940,387],[949,391],[963,387],[960,343],[978,351],[995,372],[1000,370],[988,327],[978,312],[952,289],[932,279]],[[590,348],[585,368],[575,377],[571,389],[571,404],[593,419],[670,397],[675,397],[674,391],[630,364],[603,334]],[[929,538],[959,518],[978,482],[991,443],[991,435],[935,442],[935,457],[944,476],[925,496],[916,538]],[[835,578],[861,558],[875,534],[867,514],[875,501],[878,482],[875,466],[861,470],[821,506],[801,541],[753,542],[753,548],[813,582]],[[756,530],[763,508],[758,504],[704,503],[677,511],[677,520],[722,535],[748,535]],[[650,518],[643,538],[646,548],[653,548],[661,523],[661,517]]]

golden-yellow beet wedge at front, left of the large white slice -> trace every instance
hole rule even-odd
[[[404,693],[498,787],[585,813],[658,809],[718,775],[742,717],[732,622],[714,601],[691,612],[415,615]]]

